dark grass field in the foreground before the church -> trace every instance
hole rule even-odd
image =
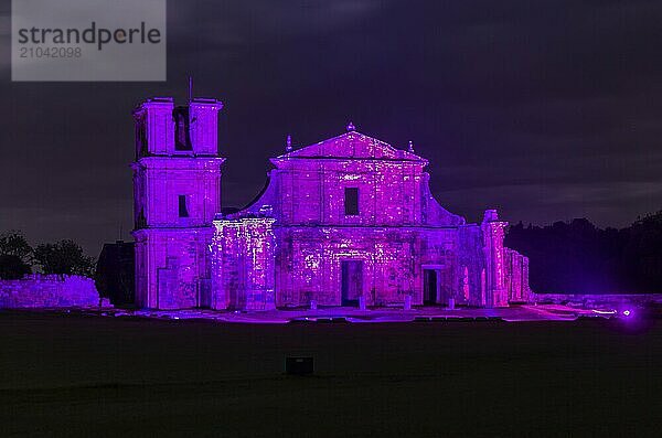
[[[0,313],[0,436],[661,436],[662,321]],[[309,377],[284,374],[312,355]]]

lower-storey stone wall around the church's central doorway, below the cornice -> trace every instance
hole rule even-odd
[[[362,266],[361,290],[367,306],[421,302],[414,257],[423,248],[419,232],[367,227],[289,227],[279,229],[276,285],[278,306],[340,306],[342,261]],[[426,252],[429,253],[428,250]]]

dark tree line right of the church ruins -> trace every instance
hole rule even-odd
[[[505,245],[530,258],[535,292],[662,292],[662,211],[621,229],[586,218],[519,223],[509,228]]]

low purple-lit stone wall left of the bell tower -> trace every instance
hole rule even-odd
[[[99,306],[92,278],[35,274],[21,280],[0,280],[2,309],[86,306]]]

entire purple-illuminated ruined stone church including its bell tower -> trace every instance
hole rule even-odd
[[[263,193],[221,215],[221,103],[172,99],[136,111],[138,306],[268,310],[311,306],[469,305],[528,300],[528,259],[503,246],[506,223],[446,211],[427,160],[357,132],[271,159]],[[406,299],[406,297],[410,297]]]

